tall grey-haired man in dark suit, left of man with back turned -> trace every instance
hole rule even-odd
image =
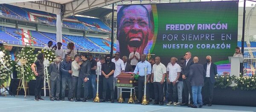
[[[185,94],[185,101],[183,104],[180,104],[181,106],[192,106],[192,90],[191,85],[189,81],[189,70],[190,66],[194,64],[194,62],[191,59],[191,52],[187,51],[185,54],[185,62],[183,63],[183,67],[181,69],[181,74],[183,78],[183,85],[184,85],[184,94]],[[190,103],[189,103],[189,94],[190,94]]]

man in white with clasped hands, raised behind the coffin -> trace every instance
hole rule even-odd
[[[129,55],[129,60],[131,61],[131,66],[133,69],[135,69],[139,59],[140,59],[140,53],[138,53],[137,51],[137,47],[134,46],[134,51],[130,53]]]

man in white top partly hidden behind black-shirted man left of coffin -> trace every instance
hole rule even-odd
[[[99,69],[99,98],[102,98],[102,91],[103,91],[103,76],[101,73],[102,64],[105,63],[105,56],[101,56],[99,58],[99,62],[97,62],[97,67],[100,67]],[[98,71],[96,69],[96,75],[98,74]]]

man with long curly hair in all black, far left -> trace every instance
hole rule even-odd
[[[35,71],[36,67],[36,71]],[[44,53],[39,53],[37,60],[31,65],[31,69],[35,73],[35,101],[44,100],[41,98],[41,90],[44,84]]]

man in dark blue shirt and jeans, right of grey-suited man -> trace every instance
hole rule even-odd
[[[66,86],[68,85],[68,90],[69,90],[69,93],[68,95],[71,95],[71,79],[72,79],[72,76],[71,74],[73,73],[72,70],[71,70],[71,57],[69,54],[66,54],[65,56],[65,60],[63,62],[61,62],[61,98],[62,98],[62,101],[65,100],[65,90],[66,90]],[[68,96],[68,99],[70,100],[71,96]]]

